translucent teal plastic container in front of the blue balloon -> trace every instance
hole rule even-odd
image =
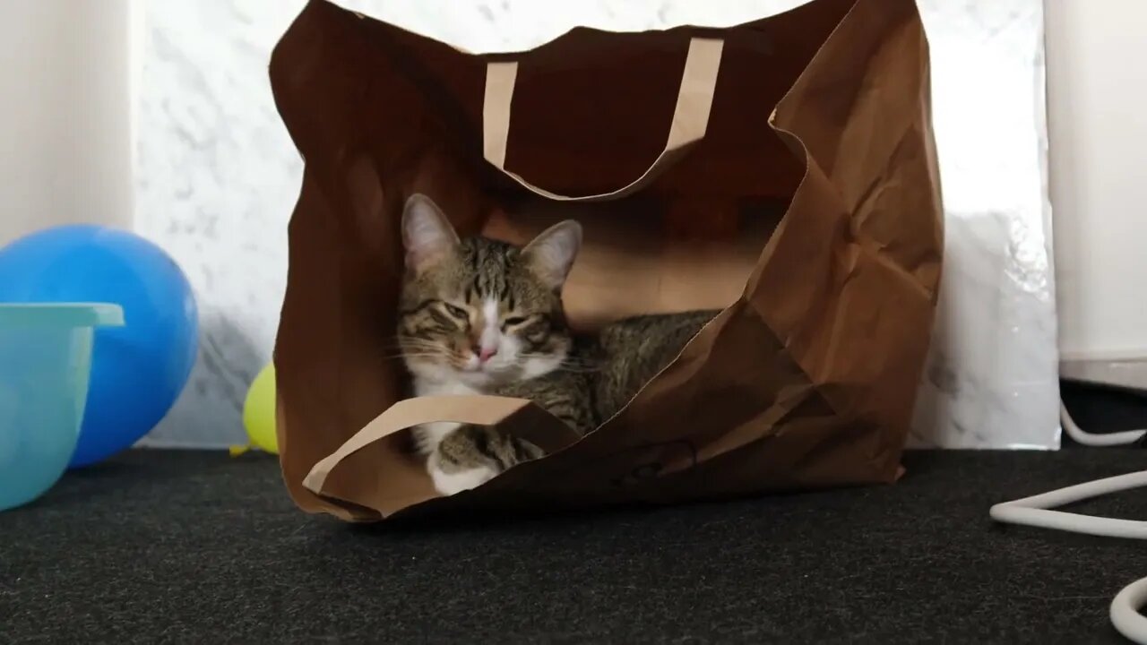
[[[84,420],[95,327],[123,324],[115,304],[0,304],[0,511],[63,475]]]

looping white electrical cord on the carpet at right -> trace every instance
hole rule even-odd
[[[1147,435],[1147,430],[1131,430],[1113,435],[1085,433],[1079,429],[1079,426],[1076,426],[1062,402],[1060,403],[1060,418],[1063,422],[1063,429],[1067,430],[1068,435],[1084,445],[1125,445],[1134,443]],[[1147,522],[1095,518],[1050,510],[1054,506],[1062,506],[1109,492],[1141,487],[1147,487],[1147,471],[1108,477],[1014,502],[997,504],[992,506],[991,515],[998,522],[1106,537],[1147,539]],[[1111,603],[1110,615],[1115,629],[1138,645],[1147,645],[1147,617],[1144,617],[1139,613],[1139,608],[1144,606],[1147,606],[1147,578],[1130,584]]]

